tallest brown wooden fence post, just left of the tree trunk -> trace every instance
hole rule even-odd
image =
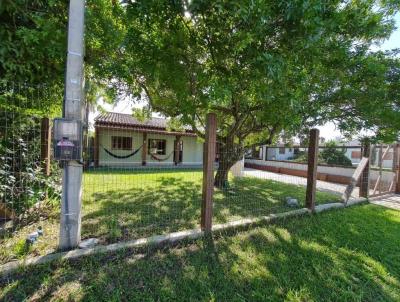
[[[214,193],[214,161],[217,135],[215,113],[207,114],[206,136],[203,152],[203,196],[201,203],[201,229],[211,231]]]

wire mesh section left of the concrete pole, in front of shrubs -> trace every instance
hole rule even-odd
[[[0,262],[57,247],[61,184],[47,118],[57,92],[0,84]]]

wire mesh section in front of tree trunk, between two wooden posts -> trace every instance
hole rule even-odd
[[[239,155],[238,159],[238,152],[232,152],[229,143],[221,141],[219,144],[223,147],[218,156],[216,178],[219,174],[225,175],[226,181],[219,181],[222,185],[216,186],[214,191],[215,223],[256,218],[304,207],[307,165],[301,170],[298,169],[302,166],[300,162],[269,159],[279,154],[279,151],[283,154],[283,149],[293,155],[293,148],[259,146],[254,148],[257,156],[249,151],[244,158]],[[306,152],[307,148],[302,148],[302,151]],[[224,160],[230,159],[234,161],[232,167],[223,164]],[[318,197],[321,203],[337,199],[324,192]]]

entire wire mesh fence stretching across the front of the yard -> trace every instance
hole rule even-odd
[[[52,103],[61,100],[58,92],[0,86],[0,262],[57,249],[61,168],[52,158],[51,119],[61,115],[61,105]],[[83,136],[82,239],[108,244],[200,226],[209,150],[202,138],[163,118],[105,113],[93,122]],[[216,144],[214,224],[306,206],[309,146],[209,143]],[[341,201],[365,150],[328,144],[318,150],[316,203]],[[396,185],[398,148],[375,145],[370,154],[353,198],[368,181],[371,196]]]

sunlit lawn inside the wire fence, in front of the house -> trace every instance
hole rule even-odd
[[[86,172],[82,199],[82,238],[101,243],[147,237],[199,226],[201,212],[200,170],[97,170]],[[285,197],[304,205],[305,188],[257,178],[238,178],[214,195],[214,223],[257,217],[289,210]],[[338,201],[338,196],[318,192],[317,202]],[[59,214],[30,224],[1,243],[0,262],[22,256],[54,252],[58,244]],[[41,225],[40,237],[27,253],[21,240]]]

